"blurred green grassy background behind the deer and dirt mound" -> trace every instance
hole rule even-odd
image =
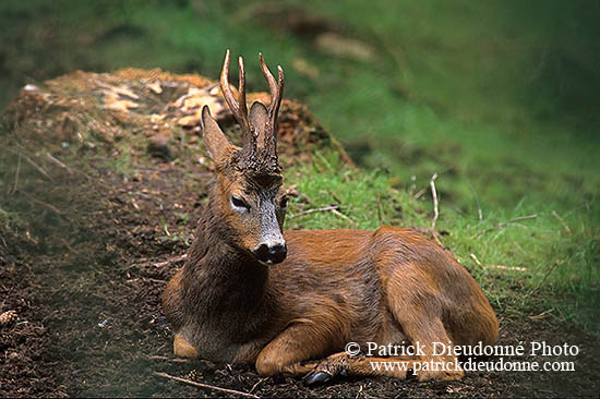
[[[0,15],[2,109],[24,84],[77,69],[216,78],[227,48],[263,90],[251,61],[262,51],[284,66],[286,97],[363,170],[339,173],[348,186],[357,173],[367,182],[348,201],[374,206],[382,196],[370,190],[394,190],[405,210],[383,209],[384,221],[427,226],[431,196],[418,193],[437,173],[444,242],[497,306],[598,328],[599,2],[5,0]],[[303,170],[313,181],[297,183],[317,197],[338,186],[333,165],[323,157]],[[288,226],[340,222],[311,220]],[[478,268],[471,253],[528,271]]]

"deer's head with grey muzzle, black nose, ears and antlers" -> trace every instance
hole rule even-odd
[[[286,242],[281,233],[287,198],[281,189],[283,176],[277,158],[277,112],[284,93],[284,71],[278,66],[276,82],[263,56],[261,69],[271,89],[266,108],[254,102],[248,112],[245,104],[245,71],[239,58],[238,99],[229,86],[229,50],[220,74],[220,89],[242,131],[242,147],[231,144],[212,117],[207,106],[202,109],[204,143],[215,165],[216,183],[211,206],[215,220],[230,245],[250,253],[263,264],[283,262]]]

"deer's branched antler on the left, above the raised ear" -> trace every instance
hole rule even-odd
[[[250,130],[250,121],[248,119],[248,108],[245,106],[245,71],[243,68],[243,60],[240,57],[239,58],[239,65],[240,65],[240,74],[239,74],[239,101],[236,100],[236,97],[233,96],[233,93],[231,92],[231,87],[229,87],[229,59],[230,59],[230,52],[229,49],[225,53],[225,61],[223,62],[223,70],[220,72],[220,90],[223,92],[223,95],[225,97],[225,101],[229,106],[229,109],[231,110],[231,113],[233,113],[233,117],[240,124],[242,129],[242,134],[244,137],[244,148],[250,148],[252,146],[252,142],[254,137],[252,136],[252,132]]]

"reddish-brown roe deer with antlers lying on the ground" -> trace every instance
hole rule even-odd
[[[208,107],[203,136],[216,180],[184,267],[163,297],[178,356],[252,362],[262,376],[302,376],[309,384],[343,375],[406,378],[434,360],[433,342],[491,344],[499,324],[481,289],[444,249],[412,229],[315,230],[283,233],[287,198],[277,158],[277,112],[284,92],[262,55],[271,104],[248,111],[239,58],[236,99],[220,75],[226,102],[241,126],[231,144]],[[350,355],[348,342],[420,346],[421,353]],[[406,370],[374,370],[372,361],[401,361]],[[419,367],[421,370],[422,367]],[[429,370],[422,379],[457,379],[464,372]]]

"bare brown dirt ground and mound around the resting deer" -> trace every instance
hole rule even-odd
[[[193,121],[197,107],[189,104],[185,113],[182,105],[168,107],[190,94],[189,82],[168,86],[168,76],[142,77],[128,75],[111,87],[96,84],[107,92],[89,95],[89,101],[116,108],[92,118],[89,108],[60,102],[69,96],[58,89],[44,92],[50,97],[40,95],[41,100],[23,93],[8,112],[0,135],[0,211],[20,216],[0,219],[0,313],[14,311],[19,318],[0,325],[0,396],[236,396],[155,372],[259,397],[598,396],[600,362],[592,336],[544,317],[507,315],[501,306],[495,306],[500,344],[578,344],[576,372],[467,373],[451,383],[339,379],[305,387],[288,377],[261,378],[252,365],[173,359],[159,297],[183,264],[211,174]],[[173,94],[167,106],[137,112],[143,107],[131,105],[152,97],[153,89],[145,98],[127,93],[132,87],[123,82],[144,87],[158,82],[155,95],[167,87]],[[121,92],[110,102],[107,93],[115,87]],[[137,113],[128,116],[130,110]],[[171,117],[159,120],[165,114]],[[189,125],[180,123],[188,117]],[[285,165],[310,161],[307,154],[314,147],[341,150],[295,102],[283,108],[280,135]]]

